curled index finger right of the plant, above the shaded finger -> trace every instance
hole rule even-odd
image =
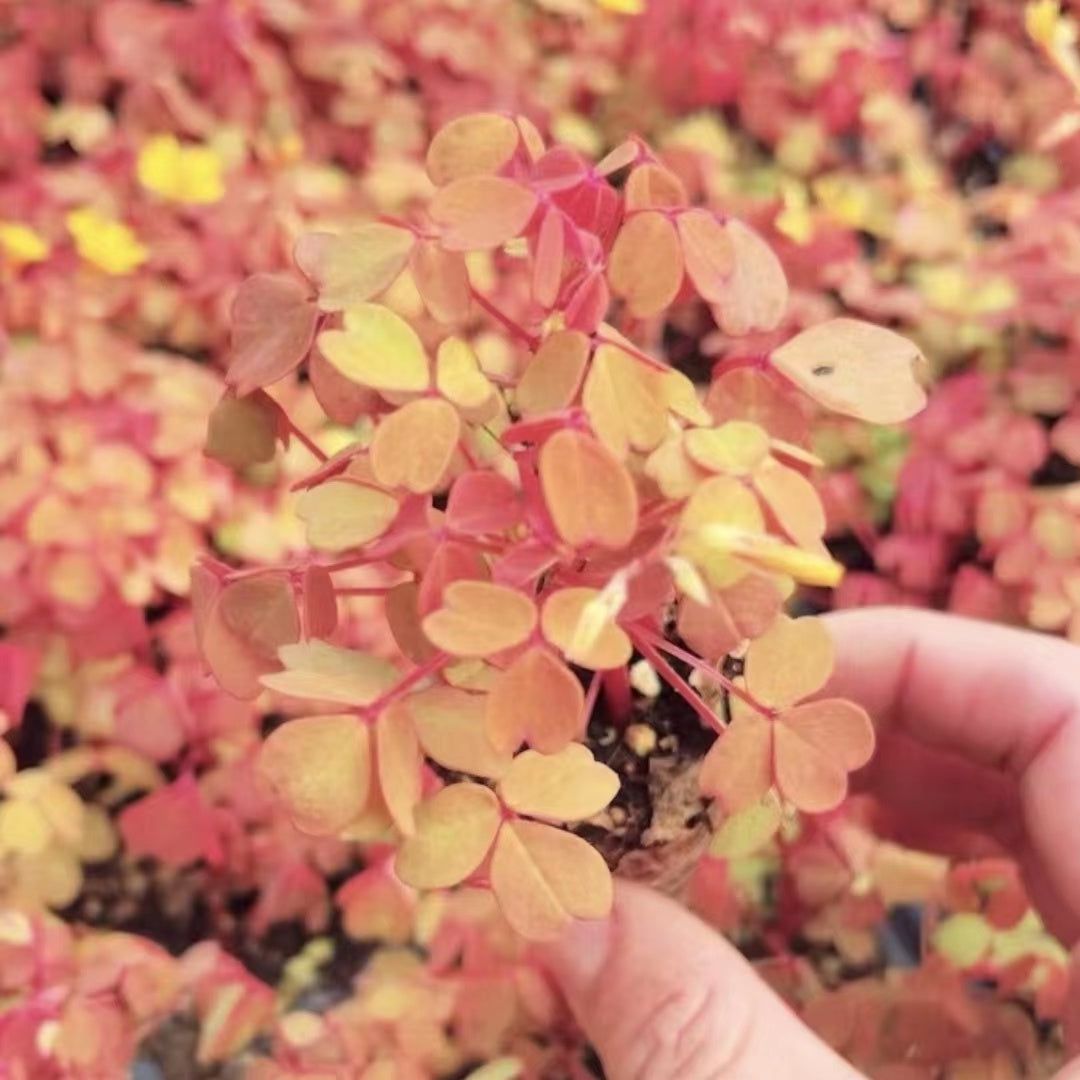
[[[1080,652],[1059,638],[929,611],[826,616],[828,692],[886,731],[1011,775],[1024,833],[1054,890],[1080,913]]]

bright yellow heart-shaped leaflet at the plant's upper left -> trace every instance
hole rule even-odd
[[[323,355],[347,379],[390,393],[420,393],[431,374],[428,354],[415,329],[378,303],[357,303],[345,313],[339,330],[319,335]]]

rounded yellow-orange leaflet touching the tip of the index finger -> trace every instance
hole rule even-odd
[[[815,693],[833,672],[833,639],[821,619],[779,616],[751,642],[744,663],[746,689],[773,708]]]

